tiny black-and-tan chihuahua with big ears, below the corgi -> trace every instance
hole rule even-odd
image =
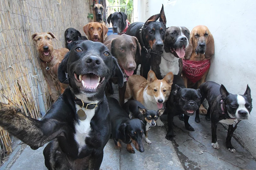
[[[140,102],[137,100],[128,100],[124,103],[124,110],[127,114],[132,114],[134,118],[142,120],[146,125],[145,138],[148,144],[151,144],[151,141],[147,138],[148,131],[151,127],[156,126],[156,121],[164,113],[165,109],[147,110]]]

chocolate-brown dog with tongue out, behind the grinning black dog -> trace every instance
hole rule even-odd
[[[124,86],[119,88],[119,102],[121,105],[124,104],[124,95],[126,90],[126,82],[128,77],[133,75],[136,68],[135,58],[140,57],[141,47],[136,37],[129,36],[126,34],[122,35],[109,35],[104,44],[109,48],[115,58],[117,58],[119,66],[124,73]],[[112,82],[116,78],[111,78]],[[112,85],[110,84],[110,90]]]

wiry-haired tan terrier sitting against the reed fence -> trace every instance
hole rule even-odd
[[[52,39],[54,38],[55,36],[51,32],[37,32],[32,35],[52,102],[55,102],[68,86],[59,82],[58,68],[69,50],[66,48],[53,49]]]

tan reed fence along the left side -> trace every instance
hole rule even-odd
[[[43,95],[45,109],[49,109],[49,93],[31,35],[50,31],[58,38],[53,40],[54,49],[63,48],[67,28],[84,34],[82,27],[92,13],[90,5],[92,0],[0,1],[0,102],[38,118],[38,95]],[[1,127],[0,140],[1,165],[3,156],[12,152],[10,137]]]

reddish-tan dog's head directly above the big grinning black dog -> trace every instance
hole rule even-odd
[[[83,26],[83,31],[87,35],[88,40],[104,42],[104,36],[109,29],[104,24],[99,22],[90,22]]]

